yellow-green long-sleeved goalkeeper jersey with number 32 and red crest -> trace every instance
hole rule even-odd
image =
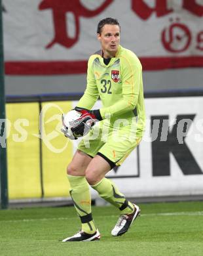
[[[77,106],[91,110],[98,97],[102,100],[100,114],[110,123],[126,119],[128,125],[136,116],[136,136],[142,137],[145,129],[142,67],[132,51],[119,46],[109,64],[103,62],[102,51],[88,60],[87,86]]]

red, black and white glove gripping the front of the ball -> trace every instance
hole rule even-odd
[[[71,128],[75,137],[83,137],[90,131],[91,127],[94,126],[97,121],[102,120],[100,110],[86,110],[85,108],[79,107],[75,107],[75,110],[82,114],[79,119],[83,120],[79,125]]]

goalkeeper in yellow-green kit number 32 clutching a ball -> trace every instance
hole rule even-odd
[[[100,240],[100,232],[92,218],[89,185],[101,198],[120,210],[119,221],[111,231],[113,236],[128,231],[140,211],[138,205],[128,201],[119,188],[105,178],[105,174],[122,164],[143,137],[145,107],[142,68],[136,54],[120,46],[117,19],[101,20],[97,36],[102,49],[88,60],[86,91],[75,110],[81,112],[81,117],[84,116],[86,120],[97,120],[98,125],[90,133],[100,129],[100,134],[90,140],[88,148],[81,140],[67,167],[70,194],[81,219],[81,231],[63,242]],[[99,110],[92,110],[99,96],[103,106]],[[84,123],[81,123],[73,128],[73,134],[83,135],[83,130]],[[105,138],[102,131],[108,131]]]

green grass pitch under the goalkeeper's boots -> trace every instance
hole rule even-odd
[[[100,241],[66,242],[79,218],[73,207],[0,211],[1,256],[203,255],[203,202],[141,203],[141,216],[120,237],[111,236],[119,211],[92,207]]]

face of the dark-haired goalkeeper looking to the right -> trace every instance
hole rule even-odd
[[[105,24],[101,34],[98,34],[98,40],[102,45],[103,57],[114,57],[120,43],[120,27],[118,25]]]

